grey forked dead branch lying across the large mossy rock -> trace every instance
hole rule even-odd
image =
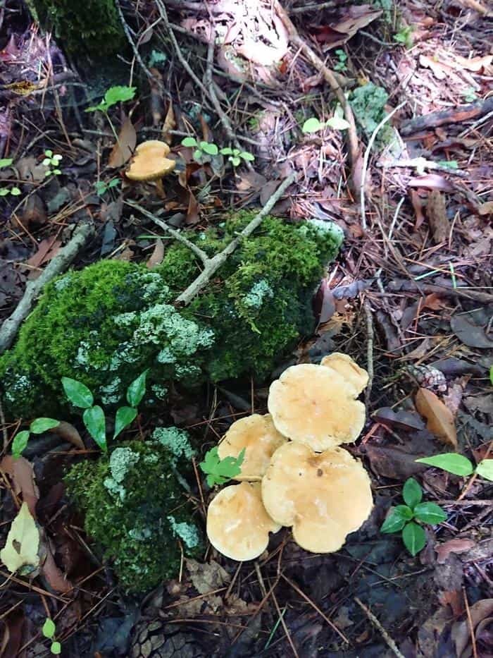
[[[285,190],[287,190],[289,185],[294,182],[295,178],[296,175],[294,173],[289,174],[289,176],[284,181],[282,181],[277,190],[275,190],[275,193],[273,193],[261,211],[256,214],[254,219],[252,219],[249,224],[246,224],[245,228],[238,233],[236,238],[231,240],[231,242],[226,245],[223,251],[220,251],[212,258],[209,258],[204,251],[197,248],[196,245],[190,242],[190,240],[187,240],[187,238],[185,238],[182,233],[175,231],[174,229],[170,229],[167,224],[161,221],[161,219],[154,217],[154,215],[148,212],[146,209],[135,203],[126,202],[127,205],[130,205],[131,207],[139,210],[139,212],[142,212],[142,214],[144,214],[146,217],[152,219],[155,224],[161,226],[161,228],[164,229],[167,233],[170,233],[170,235],[175,237],[181,243],[187,245],[187,247],[199,257],[199,260],[201,260],[202,264],[204,265],[204,269],[199,274],[199,276],[197,276],[196,279],[194,279],[194,281],[192,281],[192,283],[188,286],[188,288],[175,299],[176,304],[187,306],[192,301],[192,299],[202,290],[202,288],[208,284],[208,281],[212,279],[221,265],[226,262],[227,258],[232,254],[232,252],[235,251],[239,243],[241,243],[245,238],[251,236],[251,233],[253,233],[255,229],[261,225],[263,218],[269,214],[277,201],[280,200],[280,197],[282,197],[282,195],[285,193]]]

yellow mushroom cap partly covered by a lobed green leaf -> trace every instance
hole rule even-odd
[[[275,429],[270,413],[254,413],[231,425],[218,445],[218,456],[220,459],[237,457],[245,449],[242,473],[235,480],[260,481],[274,451],[286,441],[286,437]]]

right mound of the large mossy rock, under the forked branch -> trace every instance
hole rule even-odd
[[[218,229],[194,236],[208,255],[225,248],[254,213],[240,212]],[[300,334],[313,329],[311,298],[342,232],[331,222],[297,224],[266,217],[230,255],[205,293],[185,309],[212,327],[216,341],[206,362],[214,382],[254,374],[266,377]],[[175,293],[199,274],[189,250],[172,245],[158,268]],[[177,284],[177,285],[176,285]]]

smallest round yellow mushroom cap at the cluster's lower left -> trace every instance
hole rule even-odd
[[[221,489],[207,511],[207,536],[215,549],[232,560],[253,560],[267,548],[275,523],[262,503],[261,483],[242,482]]]

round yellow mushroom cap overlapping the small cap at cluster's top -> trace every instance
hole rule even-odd
[[[323,451],[357,439],[365,406],[354,385],[323,365],[292,365],[270,384],[268,410],[275,427],[292,441]]]

